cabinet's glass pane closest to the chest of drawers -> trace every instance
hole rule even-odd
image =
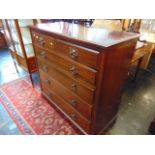
[[[30,30],[28,28],[29,25],[33,25],[32,19],[18,19],[18,24],[20,28],[20,32],[22,34],[22,40],[25,46],[25,51],[27,57],[34,56],[34,51],[32,47],[32,39],[30,35]]]

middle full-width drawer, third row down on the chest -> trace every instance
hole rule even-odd
[[[93,104],[95,87],[89,84],[82,83],[81,81],[77,81],[74,78],[70,78],[61,71],[57,70],[57,68],[50,67],[49,65],[47,65],[47,63],[39,59],[38,59],[38,65],[40,70],[46,72],[53,79],[59,81],[62,85],[64,85],[74,94],[79,95],[87,103]]]

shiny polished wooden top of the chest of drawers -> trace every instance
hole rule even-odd
[[[54,38],[58,37],[94,49],[110,47],[139,36],[139,34],[125,31],[92,28],[66,22],[38,24],[30,27],[33,30],[42,31],[44,34],[51,34]]]

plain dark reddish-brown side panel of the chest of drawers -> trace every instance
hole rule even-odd
[[[94,134],[101,133],[115,120],[136,41],[129,40],[106,49]]]

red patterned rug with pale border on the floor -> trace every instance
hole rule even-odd
[[[28,78],[0,87],[0,101],[23,134],[75,135],[80,132],[50,106]]]

